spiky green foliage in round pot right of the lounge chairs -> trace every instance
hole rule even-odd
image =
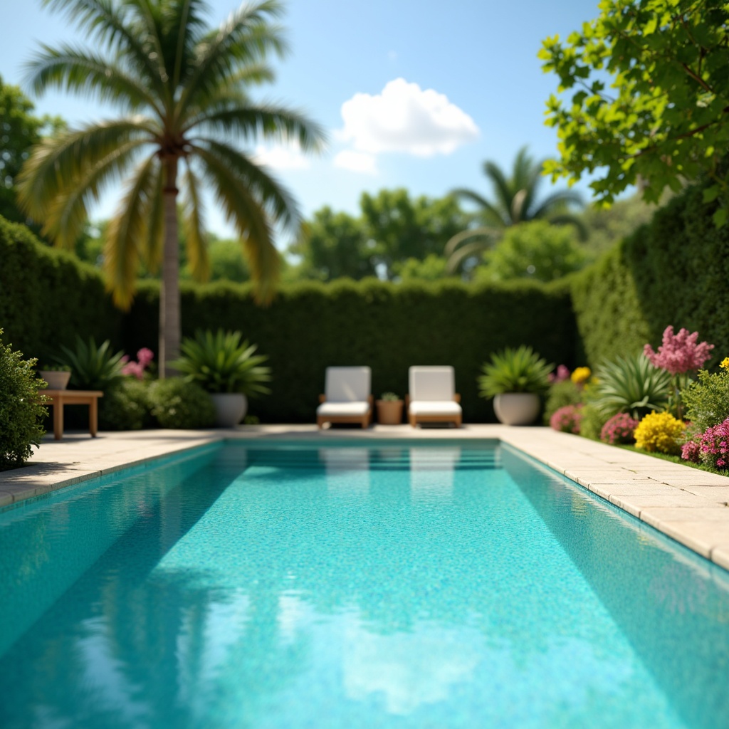
[[[504,392],[542,393],[549,387],[554,364],[547,364],[531,347],[507,347],[494,352],[491,362],[483,365],[478,378],[481,397],[494,397]]]

